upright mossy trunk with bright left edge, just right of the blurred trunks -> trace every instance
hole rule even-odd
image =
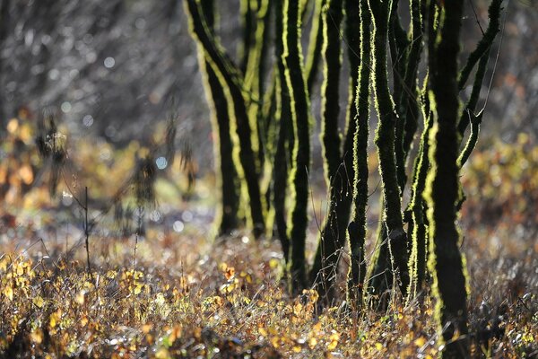
[[[303,76],[300,48],[299,0],[284,0],[282,55],[286,83],[291,97],[293,118],[293,162],[291,167],[291,278],[294,293],[300,293],[306,283],[305,244],[308,225],[308,172],[310,168],[310,131],[308,91]]]

